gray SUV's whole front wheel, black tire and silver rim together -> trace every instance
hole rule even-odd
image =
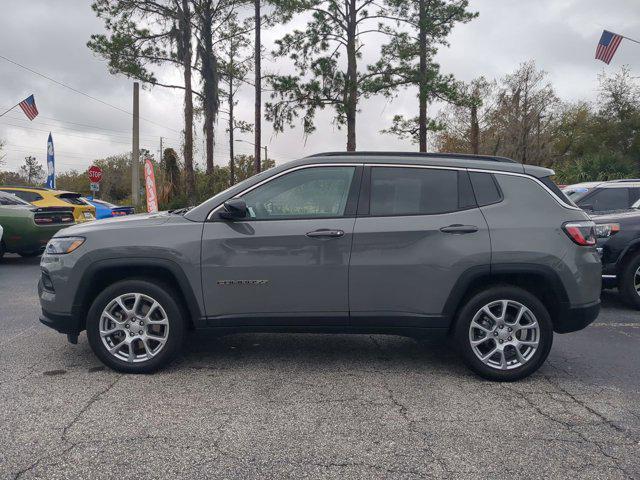
[[[184,318],[168,286],[124,280],[94,300],[87,317],[87,338],[103,363],[126,373],[150,373],[178,353]]]

